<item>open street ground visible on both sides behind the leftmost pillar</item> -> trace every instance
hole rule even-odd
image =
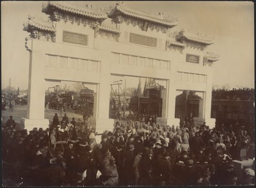
[[[13,111],[10,111],[9,109],[2,111],[1,116],[3,118],[3,123],[6,123],[6,121],[9,119],[9,116],[13,116],[13,120],[15,120],[15,122],[17,124],[17,130],[21,129],[20,128],[20,118],[26,118],[27,107],[28,106],[15,105],[13,107]],[[60,111],[54,110],[54,109],[49,109],[48,111],[45,111],[44,117],[46,119],[49,119],[52,121],[52,118],[55,113],[58,114],[58,116],[60,117],[59,119],[61,121]],[[76,114],[76,113],[72,113],[72,112],[66,112],[66,113],[67,113],[69,120],[71,120],[72,118],[76,118],[76,121],[78,118],[83,119],[83,116],[80,114]]]

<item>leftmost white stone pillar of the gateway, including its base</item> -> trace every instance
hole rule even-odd
[[[28,88],[28,111],[27,117],[20,120],[24,129],[32,130],[34,127],[49,127],[49,120],[44,118],[45,103],[45,79],[44,61],[45,54],[40,51],[39,46],[33,46],[33,40],[29,40],[29,88]]]

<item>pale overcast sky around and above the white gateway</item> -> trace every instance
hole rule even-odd
[[[111,6],[115,1],[86,2],[93,6]],[[84,4],[86,4],[84,3]],[[178,18],[178,26],[172,31],[188,29],[191,33],[205,33],[214,36],[215,43],[207,51],[220,54],[220,61],[214,63],[213,84],[230,88],[254,88],[254,20],[252,2],[175,2],[141,1],[125,2],[126,6]],[[23,22],[28,15],[47,18],[42,13],[42,2],[1,2],[1,81],[2,88],[9,84],[28,88],[29,52],[25,49]]]

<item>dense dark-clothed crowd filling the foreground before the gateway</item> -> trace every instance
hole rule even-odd
[[[193,121],[116,121],[113,131],[98,135],[86,121],[67,114],[60,121],[55,114],[45,130],[15,126],[12,116],[2,126],[3,185],[255,184],[255,164],[237,169],[232,162],[254,143],[239,124],[210,129]]]

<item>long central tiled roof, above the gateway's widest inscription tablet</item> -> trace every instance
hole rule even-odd
[[[173,18],[170,19],[170,18],[164,18],[161,16],[149,15],[147,13],[140,12],[137,10],[131,10],[119,4],[116,4],[115,8],[108,13],[108,17],[113,17],[116,12],[121,12],[124,15],[128,15],[138,19],[143,19],[150,22],[156,22],[157,24],[163,24],[164,26],[168,26],[168,27],[177,26],[177,19],[173,19]]]

